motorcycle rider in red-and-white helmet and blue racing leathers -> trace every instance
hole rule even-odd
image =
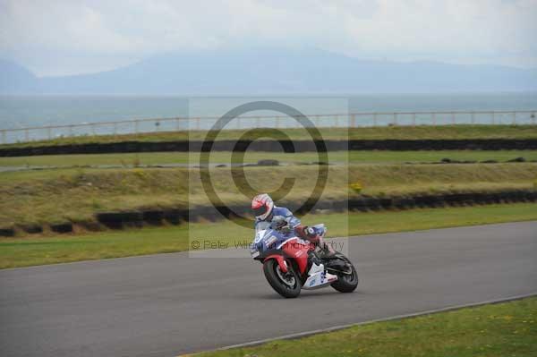
[[[294,217],[293,212],[285,207],[277,207],[267,193],[261,193],[251,200],[251,209],[255,215],[255,229],[265,229],[268,225],[284,233],[296,234],[299,238],[318,245],[325,256],[335,253],[330,244],[324,242],[322,236],[317,234],[315,228],[301,225],[300,219]]]

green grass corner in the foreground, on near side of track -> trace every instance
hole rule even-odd
[[[537,298],[349,327],[204,357],[537,355]]]

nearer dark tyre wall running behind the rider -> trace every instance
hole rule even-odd
[[[403,210],[412,208],[443,208],[464,207],[473,205],[487,205],[515,202],[537,202],[535,190],[509,190],[496,192],[457,192],[415,196],[392,196],[392,197],[354,197],[349,200],[326,200],[318,202],[313,211],[379,211],[379,210]],[[291,202],[282,202],[282,206],[291,207]],[[297,214],[307,212],[297,211]],[[98,231],[104,227],[108,229],[124,229],[127,227],[141,227],[143,225],[180,225],[183,222],[199,222],[206,220],[217,222],[224,218],[233,219],[236,215],[251,215],[249,206],[235,205],[229,208],[197,207],[188,209],[166,208],[151,209],[144,211],[126,212],[103,212],[95,215],[96,221],[70,222],[48,225],[55,233],[72,233],[74,226],[80,226],[84,230]],[[40,234],[44,232],[42,225],[18,225],[0,228],[0,236],[13,237],[17,232],[22,234]]]

